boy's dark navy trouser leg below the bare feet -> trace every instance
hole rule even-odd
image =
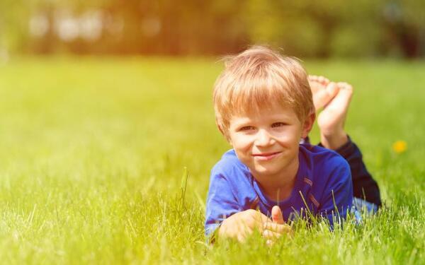
[[[321,146],[320,143],[319,146]],[[363,155],[358,146],[356,146],[356,143],[353,143],[348,136],[348,141],[335,151],[345,158],[348,165],[350,165],[351,177],[353,179],[353,196],[380,207],[382,203],[378,184],[366,169],[363,162]]]

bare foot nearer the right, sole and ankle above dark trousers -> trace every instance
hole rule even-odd
[[[344,131],[344,123],[353,95],[353,87],[344,82],[329,83],[328,86],[336,86],[338,93],[320,112],[317,117],[317,124],[319,125],[323,146],[336,149],[348,141],[348,136]]]

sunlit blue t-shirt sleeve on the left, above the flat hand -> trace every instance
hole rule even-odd
[[[227,177],[213,168],[208,190],[205,236],[209,238],[225,218],[240,211],[237,197]]]

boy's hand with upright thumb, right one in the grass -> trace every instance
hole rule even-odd
[[[267,245],[273,245],[274,240],[278,239],[283,234],[292,236],[293,230],[283,220],[282,211],[279,206],[273,206],[271,209],[272,222],[263,224],[263,237],[266,237]]]

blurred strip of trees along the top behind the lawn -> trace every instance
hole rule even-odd
[[[2,0],[0,51],[224,54],[267,43],[302,57],[423,57],[415,0]]]

